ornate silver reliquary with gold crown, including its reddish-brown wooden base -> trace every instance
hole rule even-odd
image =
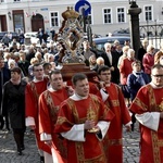
[[[85,73],[88,78],[96,76],[96,72],[90,71],[85,64],[85,58],[82,54],[84,42],[84,30],[78,22],[79,13],[72,7],[62,13],[62,26],[57,34],[55,40],[62,45],[59,54],[59,64],[62,64],[63,78],[66,80],[75,73]]]

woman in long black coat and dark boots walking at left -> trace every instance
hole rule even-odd
[[[11,79],[3,86],[2,115],[10,117],[17,153],[24,150],[25,133],[25,87],[26,82],[21,79],[21,68],[11,70]]]

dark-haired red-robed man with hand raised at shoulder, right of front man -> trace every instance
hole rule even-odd
[[[123,140],[122,130],[125,125],[130,130],[130,115],[126,108],[124,96],[120,87],[111,83],[111,71],[109,66],[101,66],[98,70],[100,78],[100,96],[105,104],[115,114],[110,128],[103,140],[108,163],[123,163]]]

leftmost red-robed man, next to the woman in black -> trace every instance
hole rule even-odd
[[[49,79],[43,77],[43,67],[40,64],[34,65],[33,73],[34,79],[27,84],[25,91],[26,126],[29,126],[35,130],[40,160],[43,162],[43,153],[41,150],[50,152],[50,149],[43,141],[40,141],[38,127],[38,98],[41,92],[47,90]]]

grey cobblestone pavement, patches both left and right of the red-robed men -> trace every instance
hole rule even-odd
[[[124,163],[138,163],[139,133],[138,125],[135,131],[126,133],[124,129]],[[39,163],[39,154],[35,143],[34,134],[27,130],[25,135],[25,150],[17,155],[15,142],[11,133],[0,130],[0,163]]]

